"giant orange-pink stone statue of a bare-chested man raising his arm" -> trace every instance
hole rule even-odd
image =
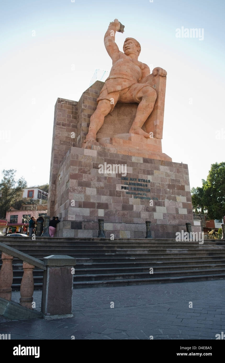
[[[150,137],[141,127],[153,110],[157,97],[156,91],[149,84],[143,83],[143,79],[149,76],[150,69],[146,64],[138,61],[141,52],[138,41],[126,38],[123,46],[124,53],[118,49],[115,33],[120,30],[120,27],[120,22],[115,19],[109,24],[105,33],[104,44],[112,58],[112,68],[97,99],[97,109],[91,116],[85,142],[96,140],[96,134],[103,125],[105,116],[113,110],[117,102],[139,103],[129,133]],[[156,74],[165,77],[166,71],[162,68],[154,68],[153,75]]]

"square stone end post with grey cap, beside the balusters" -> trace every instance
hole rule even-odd
[[[72,318],[73,266],[76,260],[70,256],[52,255],[43,258],[44,270],[41,311],[47,320]]]

